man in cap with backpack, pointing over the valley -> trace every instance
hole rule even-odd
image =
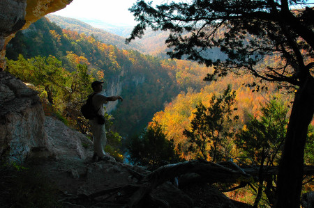
[[[94,110],[96,111],[96,114],[98,115],[93,120],[89,120],[89,124],[91,125],[91,132],[94,136],[94,155],[93,155],[93,161],[101,161],[101,160],[107,160],[105,154],[105,145],[107,143],[106,138],[106,130],[105,130],[105,109],[103,108],[103,104],[107,104],[108,101],[116,101],[117,99],[120,99],[123,101],[122,97],[117,96],[111,96],[107,97],[105,95],[101,94],[101,91],[103,90],[103,81],[94,81],[91,83],[91,88],[93,88],[94,93],[91,94],[92,96],[92,104],[94,106]]]

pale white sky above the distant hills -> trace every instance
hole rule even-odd
[[[167,1],[170,0],[154,0],[154,3],[166,3]],[[52,14],[79,19],[83,22],[89,19],[116,26],[135,26],[134,17],[128,11],[128,8],[131,8],[135,2],[136,0],[73,0],[63,10]],[[308,2],[314,3],[314,0]]]

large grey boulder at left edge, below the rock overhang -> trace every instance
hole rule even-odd
[[[37,92],[8,72],[0,72],[0,91],[1,159],[22,162],[38,149],[50,154]]]

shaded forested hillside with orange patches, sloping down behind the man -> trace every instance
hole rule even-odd
[[[20,56],[19,58],[19,54]],[[40,56],[40,57],[38,57]],[[27,70],[33,70],[31,65],[41,60],[47,67],[57,67],[61,71],[75,73],[77,64],[87,67],[87,73],[92,79],[100,79],[107,82],[111,77],[120,76],[123,82],[122,95],[125,102],[114,112],[114,127],[121,135],[133,134],[135,129],[141,129],[151,120],[156,111],[163,109],[164,102],[170,102],[181,90],[193,88],[200,90],[206,83],[202,78],[211,69],[191,63],[189,61],[170,61],[145,56],[137,51],[127,51],[112,45],[106,45],[94,36],[61,29],[56,24],[43,18],[31,25],[29,29],[20,31],[15,35],[7,47],[8,66],[15,68],[17,77],[29,83],[38,85],[38,77],[23,76]],[[37,57],[37,58],[36,58]],[[41,58],[41,57],[46,57]],[[18,59],[18,60],[17,60]],[[18,65],[24,63],[30,65],[26,71],[17,70]],[[57,65],[56,65],[57,64]],[[40,70],[40,69],[38,69]],[[60,71],[59,70],[59,71]],[[13,71],[13,70],[11,70]],[[61,73],[61,72],[60,72]],[[62,72],[64,74],[66,72]],[[62,77],[62,76],[61,76]],[[63,75],[64,77],[64,75]],[[50,93],[43,93],[59,103],[57,106],[63,115],[68,108],[74,106],[73,101],[63,102],[58,92],[60,80],[50,81]],[[70,85],[66,83],[64,85]],[[64,89],[71,86],[64,86]],[[90,92],[89,86],[85,86]],[[82,102],[80,96],[75,102]],[[62,104],[61,104],[62,103]]]

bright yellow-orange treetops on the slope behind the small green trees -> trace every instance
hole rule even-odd
[[[179,67],[183,67],[179,62]],[[165,67],[172,67],[171,65],[164,65]],[[186,70],[186,69],[185,69]],[[232,81],[231,81],[232,79]],[[232,88],[236,90],[236,106],[239,115],[239,121],[234,122],[232,127],[234,129],[242,128],[248,120],[249,115],[257,117],[260,115],[260,104],[267,102],[267,99],[271,99],[274,93],[277,93],[276,85],[268,84],[268,91],[260,91],[258,93],[252,92],[252,88],[244,86],[244,81],[249,83],[253,81],[250,77],[232,77],[231,75],[210,85],[204,86],[199,92],[189,90],[188,93],[180,93],[172,102],[165,105],[163,111],[155,113],[153,120],[156,120],[163,129],[167,138],[174,139],[174,145],[181,147],[180,154],[184,159],[195,159],[196,154],[188,152],[188,146],[190,145],[188,138],[183,135],[184,129],[190,128],[190,121],[193,120],[195,106],[202,102],[204,106],[209,106],[211,97],[215,94],[222,93],[226,88],[227,83],[232,82]],[[291,97],[286,97],[290,99]],[[236,154],[237,150],[233,150]]]

